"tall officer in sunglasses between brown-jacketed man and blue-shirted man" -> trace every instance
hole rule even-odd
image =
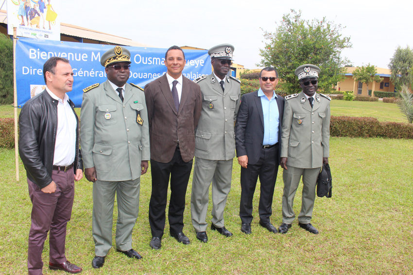
[[[234,46],[221,44],[208,50],[214,71],[195,82],[202,92],[202,111],[195,133],[195,166],[192,180],[191,217],[196,238],[206,243],[208,190],[212,182],[211,230],[230,237],[224,226],[224,208],[231,189],[235,157],[234,122],[241,99],[238,79],[229,76]]]

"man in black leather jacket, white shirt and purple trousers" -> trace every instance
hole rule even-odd
[[[19,154],[27,171],[32,201],[29,275],[42,274],[42,250],[50,231],[49,269],[80,273],[65,257],[66,226],[74,198],[74,180],[83,178],[79,118],[66,95],[72,90],[69,60],[52,57],[43,66],[46,89],[27,101],[19,115]]]

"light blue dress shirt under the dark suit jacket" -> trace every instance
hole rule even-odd
[[[278,125],[280,116],[278,112],[277,95],[273,91],[273,97],[268,97],[259,88],[258,97],[261,97],[262,113],[264,115],[264,140],[262,145],[274,145],[278,142]]]

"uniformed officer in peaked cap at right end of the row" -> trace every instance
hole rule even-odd
[[[303,195],[298,225],[318,234],[310,222],[320,167],[328,163],[331,100],[326,95],[316,93],[320,72],[316,65],[299,66],[295,75],[300,81],[302,92],[285,97],[280,160],[284,168],[280,233],[286,233],[295,219],[293,201],[302,176]]]

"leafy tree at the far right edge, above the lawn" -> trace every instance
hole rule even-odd
[[[390,79],[395,83],[396,90],[401,86],[412,85],[413,82],[413,49],[397,47],[393,58],[390,59],[389,69],[392,71]]]

